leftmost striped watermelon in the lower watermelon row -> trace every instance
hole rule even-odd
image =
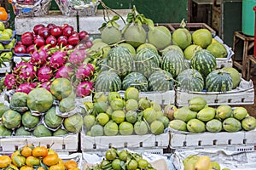
[[[102,71],[96,77],[96,92],[117,92],[121,89],[121,86],[121,79],[115,71]]]

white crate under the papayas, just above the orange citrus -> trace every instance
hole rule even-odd
[[[73,152],[79,149],[79,133],[50,137],[6,137],[0,139],[0,152],[10,153],[26,144],[45,145],[57,152]]]

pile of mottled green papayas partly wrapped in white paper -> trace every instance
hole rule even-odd
[[[71,82],[66,78],[55,79],[50,92],[45,88],[34,88],[29,94],[15,92],[9,106],[0,107],[1,136],[64,135],[78,133],[83,125]]]

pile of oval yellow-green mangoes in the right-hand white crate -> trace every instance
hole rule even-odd
[[[248,114],[246,108],[232,108],[230,105],[213,108],[201,97],[190,99],[189,105],[176,108],[172,116],[169,127],[190,133],[235,133],[250,131],[256,127],[256,119]]]

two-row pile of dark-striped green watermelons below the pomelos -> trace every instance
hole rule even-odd
[[[144,45],[144,44],[143,44]],[[236,88],[240,74],[235,68],[216,69],[216,59],[207,49],[197,50],[190,63],[176,45],[162,54],[143,47],[133,57],[128,48],[117,45],[108,51],[96,77],[96,92],[135,87],[141,92],[166,92],[175,86],[189,91],[226,92]]]

